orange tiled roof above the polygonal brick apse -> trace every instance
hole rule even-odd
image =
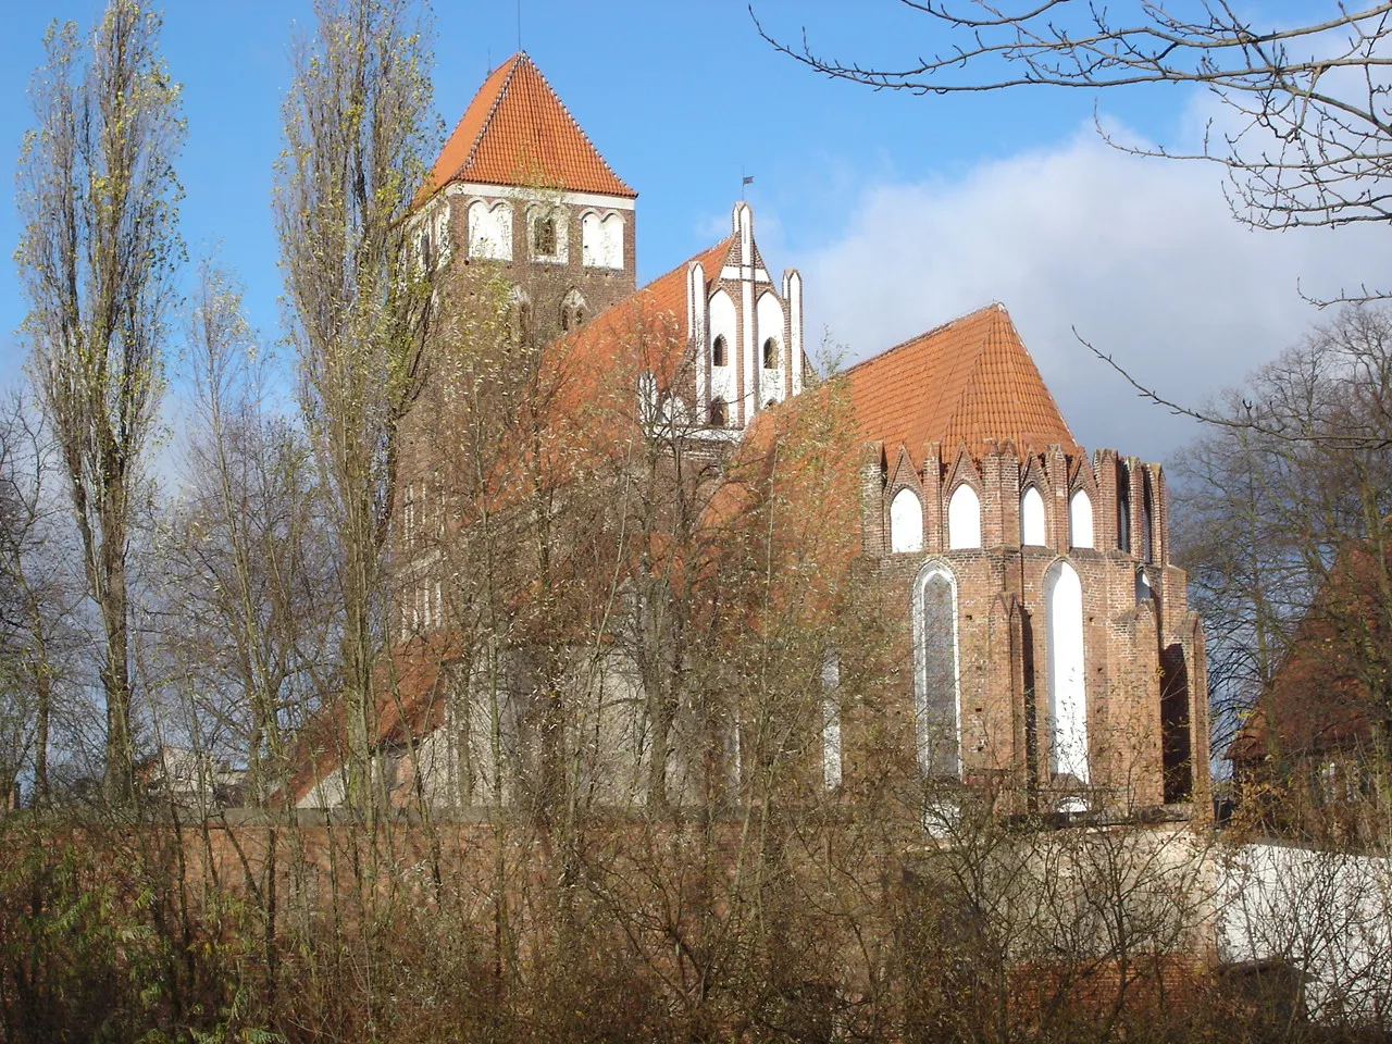
[[[846,370],[860,437],[910,459],[942,443],[947,457],[966,443],[974,457],[988,440],[1023,454],[1058,444],[1080,454],[1058,404],[1020,341],[1005,306],[991,303],[928,330]]]

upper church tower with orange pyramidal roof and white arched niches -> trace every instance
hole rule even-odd
[[[505,266],[521,296],[547,298],[523,302],[544,326],[571,330],[633,292],[636,199],[518,52],[440,150],[416,220],[468,263]]]

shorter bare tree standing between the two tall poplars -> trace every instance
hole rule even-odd
[[[284,728],[331,696],[333,535],[303,432],[267,401],[269,354],[241,287],[213,263],[188,313],[184,489],[160,541],[156,594],[167,722],[209,757],[245,761],[248,798],[284,785]]]

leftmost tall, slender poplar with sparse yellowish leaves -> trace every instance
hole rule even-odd
[[[132,796],[132,486],[156,422],[182,251],[173,163],[184,121],[159,31],[159,15],[138,0],[111,0],[86,39],[71,22],[50,28],[17,192],[25,333],[102,619],[104,789],[114,803]]]

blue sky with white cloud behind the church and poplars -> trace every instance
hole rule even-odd
[[[933,49],[894,0],[763,0],[766,28],[867,63]],[[31,122],[25,86],[53,17],[90,24],[95,0],[0,3],[0,168]],[[163,50],[184,84],[180,174],[191,255],[217,246],[277,335],[270,219],[287,45],[301,0],[170,0]],[[516,49],[515,0],[436,8],[436,104],[448,129],[491,65]],[[1237,380],[1317,316],[1296,292],[1329,291],[1392,260],[1379,230],[1258,237],[1233,226],[1212,168],[1109,152],[1087,92],[956,97],[874,93],[775,54],[743,0],[523,0],[522,45],[618,174],[639,192],[639,278],[728,227],[742,173],[768,263],[807,277],[807,341],[830,326],[864,358],[1001,299],[1086,445],[1164,457],[1190,434],[1137,408],[1073,337],[1194,400]],[[1185,142],[1208,110],[1182,89],[1100,99],[1143,141]],[[0,245],[17,238],[0,209]],[[0,383],[17,373],[24,305],[0,283]]]

